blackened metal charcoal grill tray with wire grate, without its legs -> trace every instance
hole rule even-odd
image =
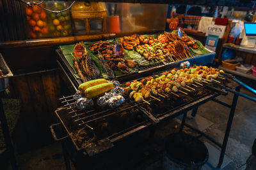
[[[219,81],[229,87],[236,85],[229,80]],[[218,87],[218,84],[209,82],[203,86],[196,85],[197,87],[193,87],[195,90],[188,92],[188,95],[179,92],[177,96],[170,94],[147,99],[150,105],[146,102],[136,103],[126,97],[125,103],[116,109],[93,106],[87,110],[77,110],[73,96],[63,96],[60,99],[63,109],[56,111],[56,115],[77,151],[85,150],[92,156],[113,147],[116,141],[133,132],[158,124],[166,118],[177,117],[184,111],[220,96],[220,93],[209,89],[212,85]]]

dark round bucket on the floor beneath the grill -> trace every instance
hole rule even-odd
[[[179,132],[165,139],[163,169],[201,169],[208,158],[207,147],[194,136]]]

